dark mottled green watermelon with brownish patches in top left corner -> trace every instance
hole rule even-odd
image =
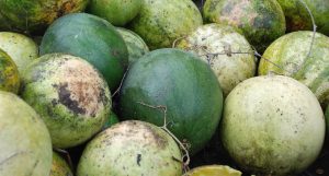
[[[57,17],[83,11],[89,0],[0,0],[0,24],[9,31],[43,32]],[[2,20],[1,20],[2,19]]]

